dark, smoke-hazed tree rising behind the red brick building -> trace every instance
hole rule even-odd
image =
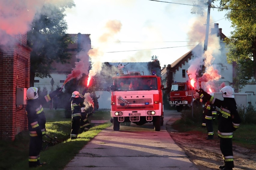
[[[34,78],[50,77],[50,71],[54,70],[51,64],[56,62],[66,63],[70,55],[65,51],[72,42],[66,34],[68,28],[64,17],[66,8],[75,6],[73,0],[65,1],[62,5],[45,4],[38,19],[32,22],[31,31],[27,34],[27,44],[32,48],[30,54],[30,86],[34,86]]]

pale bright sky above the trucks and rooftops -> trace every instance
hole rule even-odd
[[[207,18],[207,8],[203,17],[190,13],[194,0],[165,1],[172,3],[74,0],[76,7],[66,10],[67,33],[90,34],[92,48],[100,51],[95,63],[148,62],[157,56],[164,67],[204,41]],[[228,37],[233,28],[224,15],[211,9],[210,28],[218,23]]]

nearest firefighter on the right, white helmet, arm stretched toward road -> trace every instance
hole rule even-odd
[[[233,147],[232,137],[233,131],[239,128],[241,119],[237,113],[236,101],[234,92],[231,86],[224,86],[221,89],[224,100],[219,100],[212,95],[206,93],[203,89],[197,90],[200,97],[205,97],[211,104],[220,108],[220,119],[218,126],[218,137],[220,138],[220,149],[224,160],[224,165],[219,166],[219,169],[232,170],[233,162]]]

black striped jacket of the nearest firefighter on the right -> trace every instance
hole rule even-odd
[[[211,104],[220,108],[220,119],[218,126],[218,136],[221,138],[232,138],[233,131],[239,128],[241,119],[237,112],[236,101],[234,98],[224,98],[219,100],[214,96],[209,95],[205,91],[200,94],[200,97],[205,97]]]

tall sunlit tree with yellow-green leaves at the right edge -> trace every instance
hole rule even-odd
[[[234,31],[224,42],[229,49],[227,60],[237,63],[237,84],[242,88],[256,79],[256,1],[255,0],[220,0],[219,11],[227,11]]]

